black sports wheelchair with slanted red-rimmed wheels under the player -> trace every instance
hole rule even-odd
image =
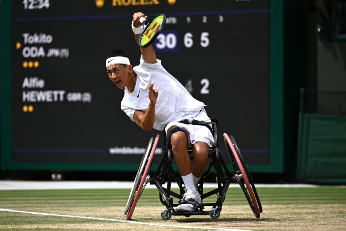
[[[172,168],[173,152],[172,147],[170,145],[170,135],[172,135],[172,131],[174,130],[172,129],[172,131],[169,134],[167,134],[167,137],[164,134],[165,151],[163,159],[161,160],[160,164],[158,165],[158,168],[153,174],[150,174],[150,167],[160,135],[156,135],[155,141],[153,137],[151,137],[151,139],[149,140],[142,162],[140,163],[133,187],[131,189],[130,196],[126,204],[126,208],[124,211],[124,215],[127,215],[126,220],[131,219],[136,203],[147,183],[156,186],[156,188],[159,191],[160,201],[164,206],[166,206],[166,209],[161,212],[161,217],[164,220],[170,219],[172,215],[185,217],[189,217],[191,215],[210,215],[211,218],[217,219],[220,216],[222,210],[222,203],[225,201],[226,192],[230,183],[238,183],[240,185],[240,188],[242,188],[245,194],[245,198],[247,199],[247,202],[249,203],[255,217],[260,218],[260,213],[262,213],[262,205],[260,202],[260,198],[257,195],[257,191],[253,183],[252,177],[234,137],[229,136],[226,133],[223,134],[227,153],[233,166],[233,171],[230,171],[227,168],[224,159],[220,155],[217,137],[217,120],[211,119],[211,121],[212,122],[192,121],[192,123],[189,123],[207,126],[210,130],[211,127],[209,126],[209,124],[211,124],[211,131],[215,139],[215,146],[209,149],[209,158],[211,159],[209,166],[204,171],[202,177],[198,181],[197,190],[201,196],[202,202],[200,206],[198,206],[197,210],[186,212],[176,211],[174,209],[174,207],[176,207],[178,204],[173,203],[172,197],[182,199],[183,194],[185,193],[185,189],[182,177]],[[178,127],[175,130],[182,131],[181,129],[178,129]],[[173,131],[173,133],[176,131]],[[190,160],[192,160],[193,157],[190,155],[192,153],[191,147],[188,148],[188,153],[190,156]],[[216,189],[211,190],[210,192],[204,193],[203,184],[206,181],[212,168],[214,168],[216,171],[218,187]],[[178,184],[180,194],[171,191],[172,178]],[[167,182],[166,188],[163,186],[165,184],[165,181]],[[217,195],[217,201],[215,203],[203,203],[204,198],[207,198],[214,194]],[[204,211],[204,206],[212,206],[212,208],[210,211]]]

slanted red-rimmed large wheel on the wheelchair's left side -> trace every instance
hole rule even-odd
[[[153,138],[153,137],[152,137]],[[153,148],[151,149],[151,152],[150,152],[150,156],[149,158],[146,158],[145,160],[146,161],[143,161],[142,162],[145,162],[145,164],[143,166],[145,166],[145,169],[144,169],[144,172],[143,174],[138,174],[137,177],[138,179],[140,179],[140,183],[136,188],[136,191],[134,193],[134,195],[131,197],[131,194],[130,194],[130,198],[132,198],[132,202],[130,203],[130,209],[128,211],[128,214],[127,214],[127,217],[126,217],[126,220],[130,220],[131,219],[131,216],[133,214],[133,211],[135,210],[135,207],[136,207],[136,204],[137,204],[137,201],[140,197],[140,195],[142,194],[143,192],[143,189],[145,188],[148,180],[149,180],[149,169],[150,169],[150,166],[151,166],[151,163],[153,161],[153,158],[154,158],[154,154],[155,154],[155,150],[156,150],[156,147],[157,147],[157,143],[158,143],[158,139],[160,138],[160,135],[156,135],[155,137],[155,141],[154,141],[154,144],[153,144]],[[152,139],[151,139],[152,141]],[[150,143],[150,142],[149,142]],[[149,146],[149,145],[148,145]],[[150,149],[149,149],[150,150]],[[136,178],[137,178],[136,177]],[[130,199],[129,198],[129,199]],[[126,210],[125,210],[126,211]],[[126,214],[125,214],[126,215]]]

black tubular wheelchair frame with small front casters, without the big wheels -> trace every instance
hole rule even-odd
[[[154,184],[157,187],[160,193],[161,203],[166,206],[166,210],[162,211],[161,213],[161,216],[163,219],[170,219],[171,215],[186,216],[186,217],[189,217],[191,215],[210,215],[212,218],[218,218],[220,216],[220,212],[222,210],[222,203],[225,200],[228,186],[230,183],[236,183],[237,179],[236,179],[236,176],[234,176],[234,174],[230,173],[224,159],[220,155],[220,150],[218,146],[218,137],[217,137],[217,122],[211,122],[211,124],[213,126],[213,131],[214,131],[213,135],[215,139],[215,146],[209,149],[209,151],[212,151],[212,153],[209,154],[209,158],[211,158],[212,160],[209,163],[207,170],[204,171],[202,177],[198,181],[197,190],[201,196],[201,202],[202,202],[201,205],[203,207],[212,206],[212,209],[210,211],[203,211],[202,209],[198,209],[197,211],[190,211],[190,212],[176,211],[174,209],[174,207],[176,207],[178,204],[173,203],[172,196],[177,199],[182,199],[183,194],[185,193],[185,190],[184,190],[184,182],[181,176],[180,175],[178,176],[172,168],[172,159],[173,159],[172,149],[169,148],[168,152],[164,153],[164,158],[160,162],[154,175],[149,179],[149,183]],[[166,142],[167,141],[165,140],[165,143]],[[188,153],[191,154],[192,150],[188,149]],[[193,157],[190,156],[190,160],[192,159]],[[210,192],[203,193],[203,184],[206,181],[212,167],[214,167],[217,173],[218,188],[213,189]],[[165,176],[167,177],[166,188],[162,186],[163,184],[165,184]],[[180,194],[177,194],[171,191],[172,177],[175,179],[175,181],[179,185]],[[214,194],[217,195],[217,201],[215,203],[203,203],[204,198],[207,198]]]

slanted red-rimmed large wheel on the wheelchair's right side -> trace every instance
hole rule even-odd
[[[253,183],[250,172],[246,166],[242,153],[237,146],[233,136],[228,136],[224,133],[225,145],[227,148],[228,156],[232,162],[234,169],[234,177],[242,188],[247,202],[249,203],[252,212],[257,218],[260,218],[262,212],[262,205],[258,198],[255,185]]]

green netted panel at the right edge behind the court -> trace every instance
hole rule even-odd
[[[346,116],[299,115],[297,180],[346,184]]]

